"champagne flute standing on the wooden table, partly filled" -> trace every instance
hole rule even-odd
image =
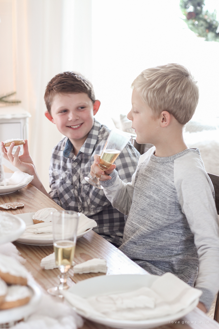
[[[63,297],[62,291],[69,288],[67,285],[68,270],[72,266],[75,256],[79,214],[75,211],[67,210],[52,212],[51,214],[55,263],[60,271],[58,275],[60,282],[57,287],[50,288],[47,291],[51,295]]]

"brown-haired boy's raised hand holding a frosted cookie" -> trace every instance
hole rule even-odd
[[[1,150],[4,158],[10,161],[11,164],[13,164],[19,170],[26,172],[29,175],[34,175],[35,166],[28,150],[27,139],[25,139],[25,144],[23,145],[24,152],[22,155],[19,156],[20,146],[18,146],[15,153],[12,154],[13,147],[14,142],[11,143],[7,150],[4,146],[4,142],[1,142]]]

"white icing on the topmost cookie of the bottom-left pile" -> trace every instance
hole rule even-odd
[[[0,254],[0,271],[11,275],[27,278],[28,271],[16,259]]]

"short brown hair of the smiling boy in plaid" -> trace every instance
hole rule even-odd
[[[78,72],[63,72],[56,74],[46,87],[44,100],[48,112],[51,114],[51,105],[56,94],[85,93],[95,102],[95,93],[92,83]]]

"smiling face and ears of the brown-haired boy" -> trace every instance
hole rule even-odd
[[[46,111],[45,115],[73,145],[83,145],[93,126],[94,115],[98,112],[99,106],[100,101],[96,100],[93,103],[86,93],[56,94],[51,114]]]

